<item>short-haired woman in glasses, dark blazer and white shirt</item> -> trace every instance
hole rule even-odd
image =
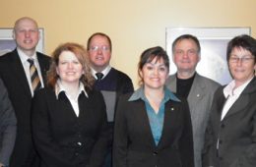
[[[256,166],[256,40],[249,35],[228,42],[233,81],[214,97],[206,131],[204,167]]]

